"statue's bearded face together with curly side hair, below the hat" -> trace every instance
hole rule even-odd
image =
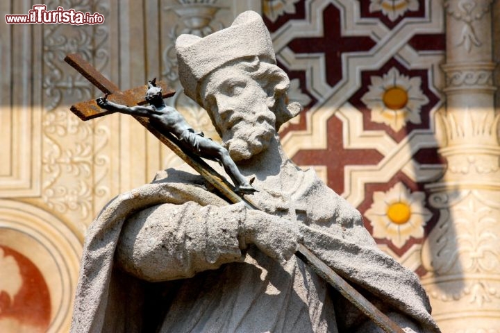
[[[276,112],[286,108],[290,80],[258,57],[228,63],[204,79],[205,108],[235,161],[265,151],[276,133]]]

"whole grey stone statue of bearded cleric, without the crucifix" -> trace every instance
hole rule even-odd
[[[184,92],[205,108],[253,203],[229,205],[189,169],[112,200],[92,223],[72,332],[381,332],[300,259],[307,246],[406,332],[440,332],[417,276],[382,253],[362,216],[285,155],[286,105],[262,19],[176,42]]]

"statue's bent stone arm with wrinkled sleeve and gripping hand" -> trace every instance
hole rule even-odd
[[[249,244],[283,261],[297,250],[292,223],[243,205],[201,207],[189,202],[150,207],[131,217],[117,246],[117,262],[149,281],[190,278],[240,262]]]

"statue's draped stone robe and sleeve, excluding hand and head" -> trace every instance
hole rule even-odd
[[[250,213],[202,185],[169,170],[103,209],[85,241],[72,332],[353,332],[365,319],[296,257],[240,250]],[[256,180],[250,198],[299,221],[304,244],[383,311],[439,332],[417,276],[376,248],[357,210],[313,171],[288,185]]]

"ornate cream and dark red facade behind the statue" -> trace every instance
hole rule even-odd
[[[35,3],[3,1],[0,12]],[[45,3],[106,21],[0,24],[1,332],[66,332],[92,219],[181,163],[131,117],[69,112],[101,93],[65,55],[122,89],[166,80],[178,90],[169,103],[216,137],[182,94],[174,41],[248,9],[272,33],[290,100],[306,107],[281,130],[294,162],[358,207],[380,248],[421,277],[443,332],[500,332],[498,1]]]

